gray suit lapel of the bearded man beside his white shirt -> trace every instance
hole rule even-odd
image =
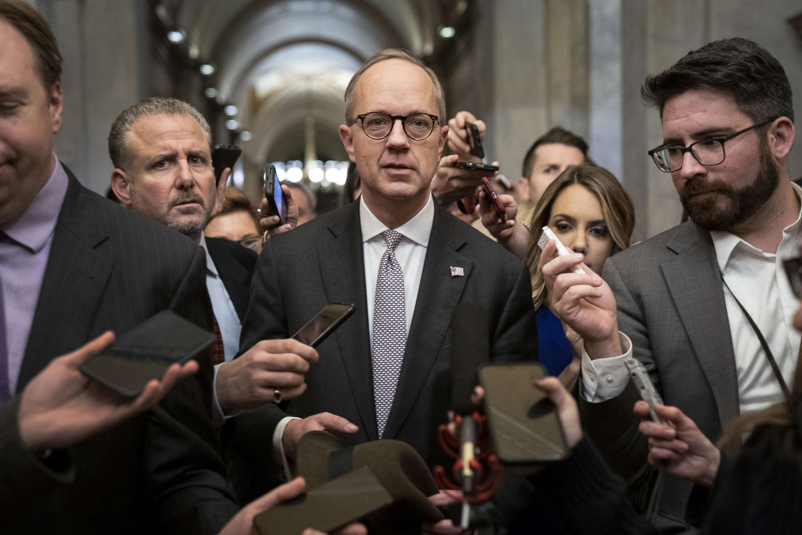
[[[661,263],[662,274],[725,424],[739,414],[738,376],[715,249],[691,222],[667,246],[677,256]]]

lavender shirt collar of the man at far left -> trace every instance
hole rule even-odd
[[[67,197],[67,186],[70,179],[67,172],[59,163],[59,158],[53,155],[55,165],[53,173],[47,183],[39,190],[25,213],[17,221],[2,229],[6,236],[16,241],[32,253],[38,253],[47,244],[48,238],[55,230],[59,221],[61,205]]]

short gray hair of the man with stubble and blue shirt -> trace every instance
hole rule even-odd
[[[196,107],[179,99],[152,97],[125,108],[111,124],[111,132],[108,134],[108,154],[115,168],[126,171],[129,163],[128,134],[131,133],[136,121],[148,116],[190,116],[206,132],[209,146],[212,144],[212,128],[209,128],[209,123]]]

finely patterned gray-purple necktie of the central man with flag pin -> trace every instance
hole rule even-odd
[[[384,434],[387,417],[393,406],[395,387],[401,375],[403,352],[407,347],[407,314],[404,303],[403,271],[395,259],[395,247],[401,233],[385,230],[387,250],[379,261],[376,298],[373,306],[373,398],[376,403],[376,424],[379,438]]]

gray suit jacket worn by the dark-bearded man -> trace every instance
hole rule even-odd
[[[738,379],[719,265],[710,233],[687,221],[611,257],[604,278],[618,303],[618,328],[650,371],[663,400],[711,440],[739,415]],[[615,399],[587,403],[582,424],[610,465],[632,482],[646,476],[632,383]],[[686,519],[692,484],[664,477],[659,513]]]

